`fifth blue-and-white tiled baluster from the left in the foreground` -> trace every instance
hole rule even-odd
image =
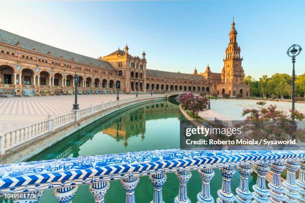
[[[166,175],[163,173],[150,175],[153,190],[153,200],[151,203],[163,203],[162,187],[167,180]]]

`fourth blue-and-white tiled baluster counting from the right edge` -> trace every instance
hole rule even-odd
[[[254,198],[253,203],[267,203],[269,202],[269,191],[266,186],[266,175],[269,171],[268,164],[258,164],[255,165],[255,170],[257,172],[256,185],[253,186],[254,192],[252,196]]]

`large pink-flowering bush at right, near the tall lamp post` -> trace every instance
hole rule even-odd
[[[247,133],[247,138],[267,140],[305,139],[304,129],[298,128],[291,116],[276,105],[264,107],[266,102],[257,102],[259,109],[244,109],[242,115],[247,115],[241,126]],[[304,120],[305,115],[298,110],[292,111],[297,120]]]

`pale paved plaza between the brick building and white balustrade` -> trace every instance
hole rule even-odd
[[[139,95],[139,97],[147,95]],[[120,99],[136,95],[120,94]],[[117,95],[79,95],[79,108],[88,108],[102,102],[115,101]],[[50,115],[60,115],[72,110],[74,95],[48,97],[0,98],[0,131],[7,132],[25,125],[45,120]]]

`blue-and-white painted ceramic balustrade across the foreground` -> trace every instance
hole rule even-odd
[[[235,166],[240,174],[236,196],[231,191]],[[149,176],[154,188],[152,203],[163,203],[162,187],[166,182],[166,173],[175,173],[179,192],[173,201],[190,203],[186,187],[191,171],[196,170],[202,179],[198,203],[213,203],[210,182],[214,168],[219,168],[222,175],[217,203],[305,201],[305,151],[156,150],[9,164],[0,166],[0,194],[12,197],[14,202],[37,203],[44,190],[53,188],[59,203],[70,203],[79,185],[89,185],[95,202],[104,203],[111,181],[120,180],[126,191],[126,203],[135,203],[139,177]],[[249,191],[248,183],[252,168],[258,174],[253,193]],[[287,179],[281,183],[281,173],[285,168]],[[296,180],[300,168],[299,179]],[[267,188],[269,170],[273,172],[273,177]]]

